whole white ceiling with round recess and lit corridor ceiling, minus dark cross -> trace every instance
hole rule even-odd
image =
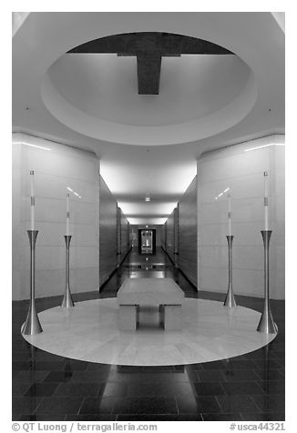
[[[284,133],[282,27],[259,12],[31,13],[13,38],[14,130],[93,150],[130,222],[162,224],[203,151]],[[65,54],[138,31],[196,36],[236,56],[164,58],[159,96],[138,96],[135,57]]]

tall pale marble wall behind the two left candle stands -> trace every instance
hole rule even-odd
[[[38,146],[38,147],[36,147]],[[42,148],[40,148],[42,147]],[[29,297],[30,170],[35,170],[36,297],[65,288],[66,196],[70,195],[70,279],[73,293],[96,290],[98,160],[95,154],[13,134],[13,299]],[[50,149],[50,150],[46,150]],[[72,189],[69,191],[67,186]],[[78,197],[74,194],[81,197]],[[84,279],[85,278],[85,279]]]

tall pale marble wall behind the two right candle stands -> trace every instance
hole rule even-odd
[[[274,146],[275,143],[284,143],[284,136],[266,136],[200,156],[197,191],[200,289],[224,291],[227,287],[230,193],[233,283],[237,293],[263,296],[263,172],[268,171],[271,297],[284,297],[284,146]]]

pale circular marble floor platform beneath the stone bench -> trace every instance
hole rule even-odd
[[[38,314],[44,332],[23,336],[35,347],[89,362],[127,366],[167,366],[237,357],[276,337],[257,332],[261,314],[246,307],[185,298],[182,331],[158,327],[159,313],[140,312],[137,331],[118,330],[116,298],[78,302]]]

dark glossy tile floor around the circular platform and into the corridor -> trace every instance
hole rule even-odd
[[[174,277],[186,297],[223,300],[197,293],[162,251],[139,257],[132,251],[101,293],[75,301],[115,297],[125,277]],[[237,297],[261,311],[262,299]],[[61,297],[37,299],[37,311]],[[127,367],[77,361],[30,346],[20,334],[28,302],[13,303],[13,415],[26,420],[284,420],[284,301],[271,301],[279,327],[270,345],[215,362],[169,367]]]

